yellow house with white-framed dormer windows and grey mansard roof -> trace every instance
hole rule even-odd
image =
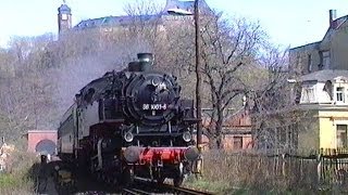
[[[301,77],[300,108],[309,114],[299,148],[348,148],[348,70],[319,70]]]

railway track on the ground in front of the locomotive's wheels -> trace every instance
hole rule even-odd
[[[176,187],[170,184],[158,184],[150,180],[137,179],[134,187],[122,190],[124,195],[149,195],[149,194],[187,194],[187,195],[211,195],[211,193],[195,191],[191,188]]]

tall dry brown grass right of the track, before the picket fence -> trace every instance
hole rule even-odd
[[[282,164],[262,154],[206,152],[203,178],[184,185],[213,194],[319,194],[316,165]],[[301,169],[298,167],[302,166]]]

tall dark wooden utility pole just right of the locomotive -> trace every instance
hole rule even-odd
[[[200,98],[200,89],[201,89],[201,67],[200,67],[200,46],[199,46],[199,0],[195,0],[195,44],[196,44],[196,112],[197,119],[199,119],[197,123],[197,147],[199,153],[201,153],[202,147],[202,108],[201,108],[201,98]]]

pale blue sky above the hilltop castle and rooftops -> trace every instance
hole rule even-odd
[[[136,0],[66,0],[73,25],[82,20],[124,15],[124,4]],[[165,0],[158,0],[165,4]],[[228,15],[259,21],[272,42],[297,47],[321,40],[328,27],[328,10],[348,15],[347,0],[206,0]],[[57,34],[57,9],[62,0],[0,0],[0,46],[12,36]]]

